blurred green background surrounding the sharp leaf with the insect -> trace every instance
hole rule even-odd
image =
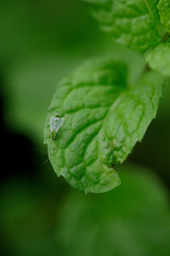
[[[78,0],[1,0],[1,254],[169,255],[170,80],[156,120],[128,164],[122,185],[83,195],[56,177],[42,144],[59,82],[88,58],[113,55],[134,84],[143,56],[99,31]]]

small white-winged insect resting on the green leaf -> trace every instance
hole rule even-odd
[[[51,137],[52,140],[55,140],[55,136],[57,132],[59,131],[60,126],[63,124],[64,118],[59,118],[59,112],[57,112],[54,116],[51,116],[50,118],[50,131],[51,131]]]

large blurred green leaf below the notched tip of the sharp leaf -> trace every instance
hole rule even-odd
[[[70,193],[57,227],[61,256],[169,254],[170,212],[162,184],[140,166],[124,166],[121,178],[123,185],[105,195]]]

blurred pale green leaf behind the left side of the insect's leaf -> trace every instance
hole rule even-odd
[[[122,45],[112,44],[110,39],[96,38],[98,45],[90,47],[94,55],[116,55],[126,61],[129,69],[129,81],[134,83],[144,68],[143,56],[133,50],[126,49]],[[97,41],[96,41],[97,42]],[[111,44],[110,44],[111,43]],[[89,49],[83,46],[81,51],[72,49],[59,53],[46,53],[30,55],[5,67],[3,73],[3,90],[5,100],[5,124],[11,130],[28,136],[42,148],[43,129],[46,112],[51,97],[54,94],[56,84],[65,75],[70,73],[83,56],[89,55]],[[135,68],[133,68],[135,67]],[[2,85],[3,85],[2,84]]]

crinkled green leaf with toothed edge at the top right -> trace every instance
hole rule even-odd
[[[132,49],[146,50],[161,42],[164,32],[156,5],[158,0],[87,0],[93,14],[114,41]]]

